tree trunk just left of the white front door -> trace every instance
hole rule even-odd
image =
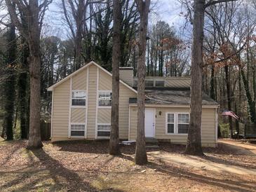
[[[146,41],[147,23],[149,15],[150,0],[136,1],[140,13],[140,39],[139,58],[137,63],[137,139],[135,149],[135,163],[143,165],[147,163],[147,151],[144,132],[144,109],[145,109],[145,75],[146,75]]]

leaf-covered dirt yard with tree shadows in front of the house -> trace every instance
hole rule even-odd
[[[256,191],[256,145],[220,140],[203,158],[184,146],[148,150],[148,165],[133,163],[135,146],[108,155],[108,142],[0,142],[0,191]]]

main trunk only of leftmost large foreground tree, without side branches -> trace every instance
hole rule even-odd
[[[27,18],[29,31],[29,76],[30,76],[30,112],[29,112],[29,142],[28,149],[41,148],[40,112],[41,112],[41,55],[39,5],[37,1],[29,1],[29,16]]]

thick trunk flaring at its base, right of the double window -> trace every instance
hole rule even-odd
[[[205,0],[194,1],[193,44],[191,57],[191,104],[185,153],[203,156],[201,146],[203,22]]]

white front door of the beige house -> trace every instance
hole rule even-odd
[[[154,109],[145,109],[145,137],[155,137]]]

